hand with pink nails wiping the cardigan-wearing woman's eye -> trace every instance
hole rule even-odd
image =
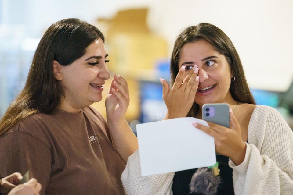
[[[168,82],[160,78],[163,85],[163,99],[168,110],[164,119],[186,117],[194,103],[199,83],[198,66],[194,65],[184,78],[185,68],[181,66],[171,89]]]

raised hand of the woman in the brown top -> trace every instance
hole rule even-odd
[[[121,122],[129,106],[128,84],[122,76],[114,76],[106,97],[106,111],[108,122]]]

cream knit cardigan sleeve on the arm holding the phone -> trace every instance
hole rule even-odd
[[[250,132],[249,132],[250,131]],[[293,194],[293,133],[275,109],[258,106],[251,116],[244,161],[233,168],[236,195]]]

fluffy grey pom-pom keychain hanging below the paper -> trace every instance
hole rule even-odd
[[[198,168],[191,178],[190,192],[203,195],[214,195],[217,193],[221,182],[219,176],[219,163],[210,167]]]

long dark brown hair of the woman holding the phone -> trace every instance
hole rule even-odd
[[[243,66],[239,55],[229,37],[218,27],[209,23],[199,23],[197,26],[190,26],[182,30],[177,37],[172,51],[170,70],[171,70],[171,85],[174,84],[178,74],[180,50],[186,43],[193,43],[199,39],[208,41],[216,51],[225,55],[226,60],[233,71],[235,81],[231,82],[230,93],[234,100],[255,104],[255,100],[248,87]],[[199,106],[194,102],[187,116],[196,116]]]

